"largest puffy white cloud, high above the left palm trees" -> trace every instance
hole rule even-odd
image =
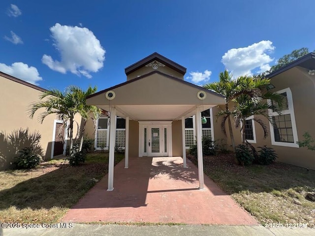
[[[105,50],[91,30],[56,23],[50,31],[61,60],[43,55],[42,62],[49,68],[63,74],[70,71],[91,78],[90,72],[97,72],[103,67]]]

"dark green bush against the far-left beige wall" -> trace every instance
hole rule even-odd
[[[13,164],[17,169],[32,169],[41,161],[41,156],[39,154],[35,154],[32,147],[27,147],[19,150],[19,155],[14,157]]]

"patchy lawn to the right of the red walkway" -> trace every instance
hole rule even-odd
[[[279,162],[244,167],[234,164],[233,155],[222,154],[205,156],[204,172],[262,225],[315,227],[315,202],[305,199],[315,192],[315,171]]]

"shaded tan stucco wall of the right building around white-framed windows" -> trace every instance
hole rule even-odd
[[[289,69],[273,78],[271,83],[276,87],[273,91],[278,91],[286,88],[290,88],[292,92],[293,107],[295,122],[298,134],[298,140],[303,140],[303,134],[308,131],[313,137],[315,137],[315,78],[308,74],[308,70],[302,67],[294,67]],[[213,115],[216,116],[220,109],[213,109]],[[267,126],[270,128],[269,121],[266,118],[262,118]],[[225,137],[221,132],[220,118],[218,122],[214,120],[214,135],[215,139]],[[233,123],[233,121],[232,121]],[[282,147],[277,145],[271,145],[270,134],[264,140],[263,130],[259,124],[255,122],[256,131],[256,144],[252,144],[254,147],[261,147],[266,145],[267,147],[274,148],[278,154],[278,161],[305,167],[315,170],[315,151],[310,151],[307,148],[291,148]],[[227,122],[225,124],[227,131],[227,141],[230,145],[229,133],[227,128]],[[233,127],[234,140],[236,145],[242,143],[242,137],[239,130]]]

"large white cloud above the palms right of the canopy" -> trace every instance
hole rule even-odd
[[[259,67],[263,72],[269,69],[269,63],[274,59],[267,53],[272,53],[275,47],[271,41],[260,41],[246,48],[233,48],[228,50],[223,56],[221,62],[228,71],[231,71],[233,78],[241,75],[252,75],[252,70]]]

